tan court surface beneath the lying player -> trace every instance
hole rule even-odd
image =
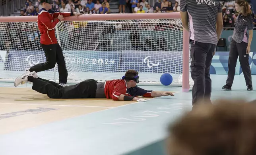
[[[51,99],[31,88],[0,88],[0,134],[131,104],[111,99]]]

